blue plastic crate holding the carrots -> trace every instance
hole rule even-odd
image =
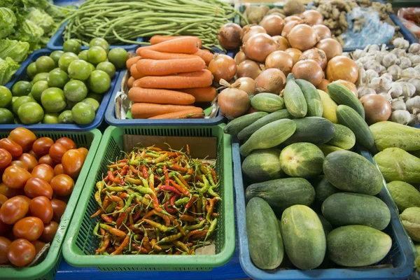
[[[109,102],[108,107],[105,112],[106,123],[114,125],[116,127],[120,126],[152,126],[152,125],[218,125],[223,123],[225,117],[222,116],[221,111],[219,110],[217,116],[214,118],[187,118],[187,119],[174,119],[174,120],[148,120],[148,119],[125,119],[120,120],[116,118],[116,104],[114,100],[116,99],[117,93],[121,90],[120,85],[123,82],[125,72],[120,74],[116,87],[113,90],[111,97],[111,102]]]

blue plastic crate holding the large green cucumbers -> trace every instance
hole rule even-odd
[[[236,138],[236,137],[235,137]],[[244,272],[252,279],[408,279],[413,272],[414,255],[409,240],[405,236],[404,229],[395,213],[393,202],[387,194],[386,188],[382,188],[378,197],[383,200],[391,211],[391,223],[385,232],[391,236],[393,246],[386,258],[379,264],[391,264],[392,268],[331,268],[331,269],[274,269],[262,270],[255,267],[248,250],[248,236],[246,233],[246,204],[245,185],[242,179],[241,155],[239,153],[239,141],[232,139],[232,159],[234,168],[234,186],[236,197],[237,228],[239,237],[239,260]]]

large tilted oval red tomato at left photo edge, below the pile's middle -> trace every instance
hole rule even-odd
[[[29,210],[29,204],[22,197],[12,197],[3,203],[0,209],[0,219],[3,223],[13,225],[25,217]]]

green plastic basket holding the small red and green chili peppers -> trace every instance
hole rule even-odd
[[[123,135],[161,137],[216,137],[216,172],[220,176],[222,201],[218,204],[218,230],[215,255],[94,255],[99,240],[93,236],[98,218],[90,218],[97,211],[94,188],[108,170],[110,160],[121,158]],[[97,267],[103,271],[208,271],[224,265],[235,253],[235,216],[233,202],[232,154],[230,136],[223,133],[223,125],[208,127],[113,127],[104,132],[83,193],[71,221],[73,227],[64,240],[63,255],[75,267]]]

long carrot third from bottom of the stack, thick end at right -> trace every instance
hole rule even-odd
[[[137,81],[136,81],[137,82]],[[134,83],[136,83],[134,82]],[[190,88],[209,87],[212,82],[211,72],[202,70],[190,73],[179,73],[169,76],[146,76],[139,79],[137,85],[147,88]],[[136,86],[136,85],[134,85]]]

